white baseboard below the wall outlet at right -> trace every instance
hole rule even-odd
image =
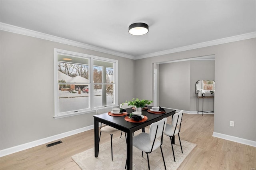
[[[217,133],[217,132],[213,132],[212,136],[256,147],[256,141],[253,141],[253,140],[238,138],[235,136],[230,136],[227,134],[222,134],[222,133]]]

